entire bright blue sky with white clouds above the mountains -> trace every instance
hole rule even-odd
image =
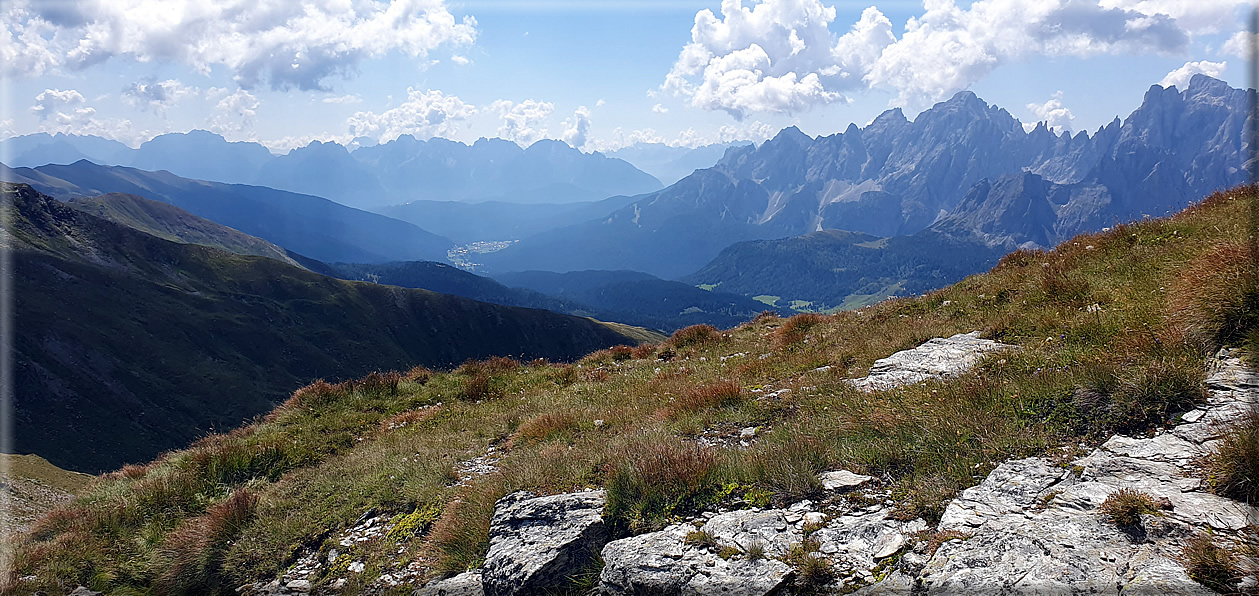
[[[0,0],[0,136],[276,151],[399,134],[584,150],[913,117],[972,89],[1095,130],[1155,83],[1240,87],[1235,0]]]

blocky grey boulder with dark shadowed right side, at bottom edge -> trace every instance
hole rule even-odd
[[[569,585],[608,541],[602,490],[534,496],[514,493],[495,504],[490,551],[481,568],[487,596],[541,593]]]

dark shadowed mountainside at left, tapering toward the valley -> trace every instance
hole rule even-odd
[[[633,343],[588,319],[178,244],[30,193],[15,213],[15,447],[62,467],[149,460],[319,377]]]

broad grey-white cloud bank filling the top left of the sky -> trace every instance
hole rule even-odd
[[[0,24],[10,76],[88,68],[111,58],[223,66],[244,88],[325,88],[365,58],[423,58],[476,39],[444,0],[11,0]]]

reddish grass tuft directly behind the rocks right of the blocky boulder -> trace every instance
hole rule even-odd
[[[662,527],[692,512],[716,489],[718,460],[697,445],[637,441],[614,454],[607,470],[603,517],[613,534]]]

